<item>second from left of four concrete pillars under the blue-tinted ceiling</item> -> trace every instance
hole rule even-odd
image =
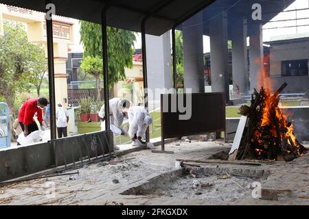
[[[229,100],[226,12],[209,21],[211,92],[225,92]]]

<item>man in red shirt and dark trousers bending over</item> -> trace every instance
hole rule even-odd
[[[23,103],[21,110],[19,110],[19,125],[21,125],[24,136],[38,130],[38,125],[36,125],[33,118],[34,114],[36,114],[38,122],[42,125],[42,110],[47,106],[47,103],[48,102],[45,97],[29,99]]]

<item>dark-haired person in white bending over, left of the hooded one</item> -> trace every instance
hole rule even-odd
[[[130,101],[127,99],[113,98],[109,100],[109,119],[110,119],[110,127],[111,131],[113,131],[113,141],[114,141],[114,149],[119,150],[119,147],[116,145],[115,136],[116,135],[126,135],[126,130],[122,129],[122,123],[124,122],[124,118],[127,117],[126,112],[130,107]],[[101,131],[105,130],[105,112],[104,105],[102,105],[101,110],[99,112],[99,116],[101,118]]]

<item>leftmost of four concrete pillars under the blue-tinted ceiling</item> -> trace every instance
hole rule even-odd
[[[183,60],[184,88],[205,92],[202,12],[183,23]]]

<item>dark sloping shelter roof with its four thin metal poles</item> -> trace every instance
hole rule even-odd
[[[109,114],[108,107],[108,57],[107,57],[107,34],[106,26],[139,31],[142,36],[143,53],[143,75],[144,88],[147,88],[147,68],[146,68],[146,38],[145,34],[161,36],[166,31],[172,29],[172,50],[173,50],[173,70],[174,82],[176,81],[176,53],[175,53],[175,28],[188,18],[200,12],[216,0],[0,0],[0,3],[35,10],[38,12],[48,12],[48,3],[56,6],[56,15],[76,18],[78,20],[89,21],[102,24],[102,56],[104,72],[104,105],[105,114]],[[51,137],[56,138],[56,118],[54,99],[54,53],[53,53],[53,33],[52,19],[47,19],[47,51],[49,70],[49,101],[51,105]],[[174,83],[176,88],[176,83]],[[147,98],[145,93],[144,98]],[[145,105],[147,107],[147,105]],[[109,118],[106,118],[106,130],[109,130]]]

